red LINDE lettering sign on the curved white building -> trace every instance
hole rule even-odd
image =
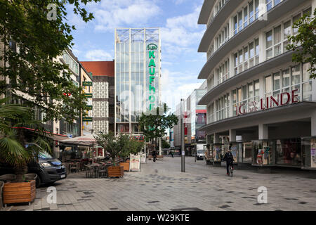
[[[244,108],[244,106],[246,104],[241,104],[241,105],[237,105],[236,106],[236,115],[244,115],[246,113],[253,113],[256,112],[258,110],[266,110],[268,108],[272,108],[273,105],[277,105],[277,106],[282,106],[282,105],[287,105],[287,104],[292,104],[292,103],[298,103],[298,101],[296,100],[296,97],[298,96],[298,94],[296,94],[296,91],[298,91],[298,89],[295,89],[293,91],[291,91],[291,93],[289,92],[283,92],[281,94],[278,94],[276,97],[270,96],[270,97],[266,97],[266,98],[261,98],[260,99],[260,108],[257,107],[257,102],[256,101],[251,101],[248,104],[248,110],[246,110]],[[284,100],[284,97],[287,96],[286,101]]]

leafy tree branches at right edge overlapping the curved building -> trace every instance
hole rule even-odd
[[[294,28],[298,28],[298,34],[289,36],[292,44],[287,46],[287,50],[296,51],[292,60],[296,63],[310,63],[310,78],[316,78],[316,8],[314,17],[303,15],[296,23]]]

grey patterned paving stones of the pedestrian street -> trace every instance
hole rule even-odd
[[[316,210],[316,179],[308,172],[258,174],[236,169],[233,177],[225,167],[205,161],[165,157],[141,165],[141,172],[125,172],[123,179],[87,179],[84,172],[57,181],[57,203],[48,204],[47,187],[37,188],[32,205],[9,205],[4,210]],[[268,203],[258,203],[258,187],[268,189]]]

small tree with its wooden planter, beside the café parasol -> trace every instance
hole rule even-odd
[[[109,134],[103,134],[103,132],[99,132],[94,137],[98,144],[102,146],[110,154],[110,158],[112,158],[113,165],[107,167],[107,176],[123,177],[124,167],[120,165],[117,166],[116,159],[121,151],[126,147],[126,142],[129,140],[129,136],[119,135],[115,137],[114,133],[110,131]]]

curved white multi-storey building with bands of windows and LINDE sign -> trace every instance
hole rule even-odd
[[[287,51],[296,20],[316,0],[205,0],[199,52],[207,61],[208,159],[228,148],[235,162],[261,167],[316,168],[316,79]]]

